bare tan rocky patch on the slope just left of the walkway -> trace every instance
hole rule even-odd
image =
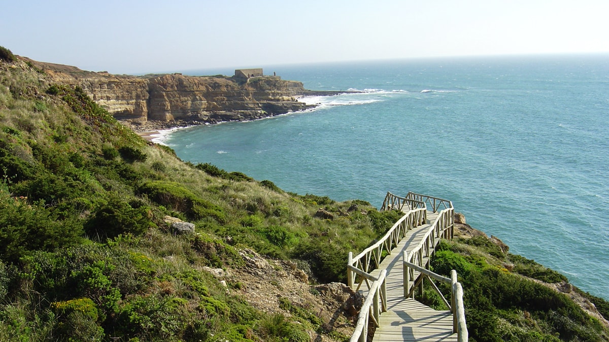
[[[307,274],[291,261],[265,259],[248,249],[239,254],[245,267],[205,270],[220,281],[240,284],[227,291],[242,295],[259,310],[287,316],[297,316],[304,310],[317,316],[319,327],[317,331],[309,330],[311,341],[333,342],[337,337],[343,340],[353,334],[357,314],[364,304],[360,293],[338,282],[309,285]]]

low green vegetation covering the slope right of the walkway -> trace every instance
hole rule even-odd
[[[442,241],[431,266],[438,274],[457,271],[464,289],[470,341],[609,340],[607,326],[591,318],[565,293],[542,283],[562,283],[565,276],[507,253],[485,236]],[[438,287],[449,298],[448,285]],[[424,292],[424,301],[446,310],[431,289]],[[590,299],[600,307],[607,305],[600,298]]]

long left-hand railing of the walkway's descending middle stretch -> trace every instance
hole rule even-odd
[[[362,253],[353,257],[353,252],[349,252],[349,260],[347,262],[347,285],[350,288],[353,288],[356,276],[360,276],[360,281],[355,290],[359,290],[364,282],[368,289],[370,289],[370,281],[374,281],[375,279],[370,272],[376,270],[381,264],[383,251],[387,254],[391,254],[391,250],[400,243],[400,240],[404,236],[406,236],[407,231],[423,225],[426,222],[427,210],[425,208],[411,210],[401,217],[400,220],[381,237],[381,239],[366,248]]]

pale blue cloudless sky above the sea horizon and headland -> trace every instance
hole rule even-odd
[[[0,46],[115,74],[609,52],[609,0],[4,1]]]

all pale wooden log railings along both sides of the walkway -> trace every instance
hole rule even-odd
[[[353,256],[352,252],[349,253],[347,265],[348,286],[350,288],[354,287],[356,277],[360,277],[360,281],[357,284],[357,290],[359,290],[364,283],[368,286],[368,295],[358,315],[356,328],[350,340],[351,342],[366,341],[368,324],[370,324],[370,321],[375,326],[378,326],[380,313],[387,311],[387,294],[385,288],[387,270],[381,270],[378,277],[371,274],[372,271],[380,267],[382,259],[381,254],[383,252],[391,254],[391,250],[400,243],[400,240],[403,239],[404,236],[406,236],[407,231],[417,226],[427,224],[428,206],[431,206],[432,212],[438,213],[438,215],[434,222],[429,224],[429,227],[426,228],[427,230],[424,232],[423,240],[415,246],[414,250],[411,250],[410,254],[404,251],[404,296],[409,297],[412,295],[414,298],[414,290],[418,285],[421,286],[422,293],[423,281],[424,279],[428,279],[434,290],[440,294],[442,300],[452,312],[453,331],[457,332],[458,341],[467,341],[468,332],[465,324],[465,310],[463,309],[463,288],[461,284],[457,282],[456,271],[451,271],[451,278],[443,277],[426,269],[425,267],[427,265],[423,264],[423,258],[431,257],[431,254],[435,250],[435,246],[440,239],[443,237],[452,239],[454,235],[454,208],[452,207],[452,202],[443,200],[442,198],[415,194],[414,192],[409,192],[406,197],[398,197],[391,192],[387,192],[381,211],[393,209],[400,211],[406,211],[406,209],[408,209],[408,211],[384,234],[384,236],[381,237],[381,239],[365,248],[365,250],[357,254],[357,256]],[[413,279],[415,270],[420,272],[420,276],[417,279]],[[444,298],[431,279],[451,284],[450,303]],[[411,280],[412,288],[410,287]]]

